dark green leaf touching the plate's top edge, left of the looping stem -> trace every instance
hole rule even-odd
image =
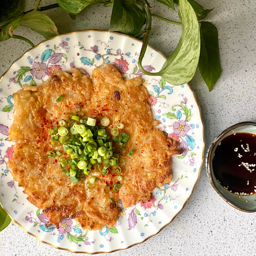
[[[110,31],[128,35],[137,35],[145,22],[145,14],[139,9],[135,0],[114,0]]]

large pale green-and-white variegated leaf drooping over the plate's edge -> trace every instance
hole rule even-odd
[[[200,55],[198,20],[187,0],[179,0],[179,16],[182,20],[180,41],[157,73],[173,85],[185,84],[193,78]]]

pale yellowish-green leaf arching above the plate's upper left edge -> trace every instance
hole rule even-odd
[[[44,12],[32,11],[24,15],[20,26],[26,26],[48,39],[58,35],[54,22]]]

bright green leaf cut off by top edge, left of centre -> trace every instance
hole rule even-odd
[[[84,7],[93,3],[94,0],[57,0],[60,8],[68,13],[78,14]]]

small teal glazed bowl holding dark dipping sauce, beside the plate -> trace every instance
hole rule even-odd
[[[240,138],[237,140],[236,136],[239,135],[246,135],[248,138],[250,137],[250,140],[248,140],[249,142],[242,143]],[[239,145],[235,147],[232,140],[236,140],[236,142],[239,141]],[[232,152],[227,153],[227,156],[222,157],[222,155],[225,155],[225,151],[227,150],[225,148],[221,155],[219,154],[219,148],[221,145],[223,148],[224,144],[227,144],[227,141],[229,141],[230,145],[233,146],[232,149],[230,149]],[[212,187],[228,204],[243,212],[256,212],[256,183],[253,184],[253,177],[254,179],[256,178],[256,167],[254,167],[254,163],[256,163],[256,150],[255,148],[251,148],[252,150],[249,149],[249,145],[253,144],[256,145],[256,123],[240,122],[236,125],[230,126],[219,134],[209,146],[206,154],[206,168]],[[253,160],[254,163],[252,163],[252,161],[246,161],[244,159],[245,157],[243,157],[246,155],[248,157],[250,156],[250,160]],[[235,161],[236,163],[239,161],[240,164],[236,164],[236,168],[233,168],[232,164],[234,164]],[[218,168],[216,166],[218,166]],[[222,176],[219,174],[220,170]],[[241,177],[239,175],[241,175]],[[236,187],[239,187],[244,183],[244,180],[246,180],[246,185],[249,185],[248,175],[251,175],[250,177],[252,177],[250,186],[253,186],[253,191],[250,191],[249,193],[236,192],[237,190],[234,190],[234,187],[235,189]],[[225,179],[220,181],[219,177],[225,177]],[[236,181],[235,186],[233,186],[234,180]],[[229,186],[229,182],[231,186]],[[246,186],[244,187],[246,188]],[[233,191],[231,188],[233,188]]]

